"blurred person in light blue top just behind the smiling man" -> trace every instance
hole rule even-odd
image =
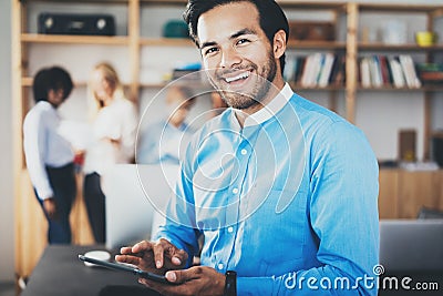
[[[146,127],[136,151],[140,164],[179,164],[193,134],[186,118],[195,103],[192,91],[186,86],[173,86],[166,93],[167,115]]]

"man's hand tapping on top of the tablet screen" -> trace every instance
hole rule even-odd
[[[142,271],[165,274],[167,271],[183,268],[187,253],[178,249],[168,241],[161,238],[157,243],[143,241],[132,247],[122,247],[115,261],[136,265]]]

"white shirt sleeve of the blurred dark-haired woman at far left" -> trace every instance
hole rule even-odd
[[[54,195],[44,164],[47,127],[41,113],[28,115],[23,124],[23,149],[28,172],[38,197],[47,200]]]

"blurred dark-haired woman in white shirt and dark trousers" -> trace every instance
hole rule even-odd
[[[49,244],[70,244],[69,216],[76,195],[74,151],[60,133],[58,108],[73,88],[70,74],[52,67],[38,71],[32,83],[35,105],[23,122],[23,149],[35,196],[48,220]]]

